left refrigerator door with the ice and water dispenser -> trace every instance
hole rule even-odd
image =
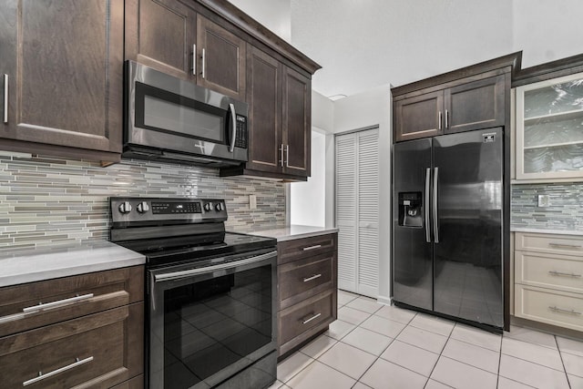
[[[431,138],[395,144],[393,169],[393,298],[431,310]]]

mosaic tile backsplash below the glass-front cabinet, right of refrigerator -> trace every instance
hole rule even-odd
[[[540,208],[538,195],[548,195]],[[512,186],[511,224],[515,228],[583,231],[583,183]]]

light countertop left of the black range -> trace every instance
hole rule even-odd
[[[0,287],[144,264],[146,257],[110,241],[0,253]]]

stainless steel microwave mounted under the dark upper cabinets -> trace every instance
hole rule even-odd
[[[224,167],[247,161],[247,104],[126,61],[123,157]]]

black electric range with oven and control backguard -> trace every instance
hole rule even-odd
[[[277,241],[225,232],[224,200],[111,198],[110,239],[146,255],[147,383],[276,379]]]

